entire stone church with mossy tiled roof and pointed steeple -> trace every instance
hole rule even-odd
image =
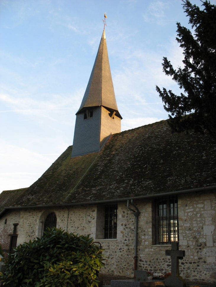
[[[172,133],[166,120],[121,132],[105,30],[76,113],[73,145],[30,187],[0,194],[0,245],[55,226],[90,234],[104,249],[104,276],[171,272],[179,243],[186,281],[216,282],[216,144]]]

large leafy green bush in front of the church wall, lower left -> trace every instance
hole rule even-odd
[[[3,286],[98,286],[101,251],[89,236],[48,229],[43,237],[14,248],[1,278]]]

